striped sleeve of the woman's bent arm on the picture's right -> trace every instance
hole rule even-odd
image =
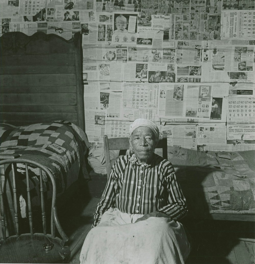
[[[158,209],[157,211],[167,214],[172,220],[178,220],[185,216],[188,210],[186,199],[182,193],[171,163],[168,164],[165,171],[165,180],[168,191],[168,205]]]

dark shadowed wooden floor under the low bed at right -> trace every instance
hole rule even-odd
[[[184,226],[192,242],[187,264],[255,263],[254,223],[205,220]]]

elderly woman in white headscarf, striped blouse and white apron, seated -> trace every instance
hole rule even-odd
[[[130,152],[113,165],[80,254],[81,263],[184,263],[190,251],[178,219],[186,200],[172,164],[154,153],[159,129],[136,119]]]

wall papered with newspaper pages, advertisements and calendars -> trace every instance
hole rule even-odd
[[[136,118],[168,145],[255,149],[254,0],[3,0],[0,34],[82,34],[86,133]]]

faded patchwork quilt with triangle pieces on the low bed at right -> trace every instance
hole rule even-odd
[[[255,213],[255,151],[213,152],[168,147],[189,213]]]

